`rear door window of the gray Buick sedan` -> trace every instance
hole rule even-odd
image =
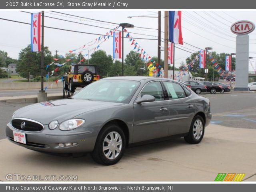
[[[179,84],[164,81],[164,86],[166,87],[169,99],[177,99],[177,98],[186,97],[186,94],[185,94],[183,88]]]

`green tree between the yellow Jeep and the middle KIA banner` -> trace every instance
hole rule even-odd
[[[98,66],[100,77],[106,77],[110,73],[110,67],[113,64],[111,55],[106,54],[103,50],[98,50],[91,54],[89,63]]]

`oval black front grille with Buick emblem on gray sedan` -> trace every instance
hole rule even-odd
[[[24,126],[22,126],[22,124]],[[25,119],[25,118],[17,118],[12,120],[12,126],[18,130],[22,131],[42,131],[44,126],[40,122],[36,122],[34,120]]]

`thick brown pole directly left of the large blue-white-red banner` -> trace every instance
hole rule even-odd
[[[168,78],[168,11],[164,11],[164,78]]]

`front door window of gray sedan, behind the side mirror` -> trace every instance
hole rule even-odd
[[[154,81],[146,84],[146,86],[141,91],[141,96],[143,95],[152,95],[156,99],[155,101],[164,100],[164,92],[159,81]]]

